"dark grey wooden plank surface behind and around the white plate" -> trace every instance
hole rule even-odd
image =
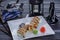
[[[15,1],[15,0],[6,0],[4,2],[2,2],[3,6],[6,6],[10,1]],[[20,3],[24,3],[24,12],[23,12],[23,16],[25,16],[26,14],[29,13],[29,0],[20,0]],[[44,0],[44,16],[48,16],[49,15],[49,4],[52,0]],[[58,23],[56,23],[55,25],[51,25],[51,27],[54,29],[54,31],[56,32],[56,34],[54,35],[54,37],[43,37],[43,38],[33,38],[34,40],[60,40],[60,0],[54,0],[55,2],[55,13],[58,17]],[[3,30],[5,30],[3,28],[3,26],[0,24],[0,28],[2,28]],[[30,39],[30,40],[33,40]],[[6,34],[4,34],[3,32],[0,31],[0,40],[11,40],[11,37],[7,36]],[[29,40],[29,39],[28,39]]]

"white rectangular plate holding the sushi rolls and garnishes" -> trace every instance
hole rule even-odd
[[[40,30],[40,28],[42,26],[44,26],[46,28],[46,32],[41,33],[40,31],[38,31],[37,35],[34,35],[31,32],[27,32],[26,35],[25,35],[25,38],[22,38],[21,36],[18,36],[17,30],[19,29],[19,25],[21,23],[29,23],[31,21],[32,17],[8,21],[7,23],[9,25],[10,30],[11,30],[13,40],[23,40],[23,39],[28,39],[28,38],[34,38],[34,37],[39,37],[39,36],[46,36],[46,35],[55,34],[55,32],[48,25],[48,23],[45,21],[45,19],[42,16],[38,16],[38,17],[40,18],[40,21],[39,21],[37,30]]]

